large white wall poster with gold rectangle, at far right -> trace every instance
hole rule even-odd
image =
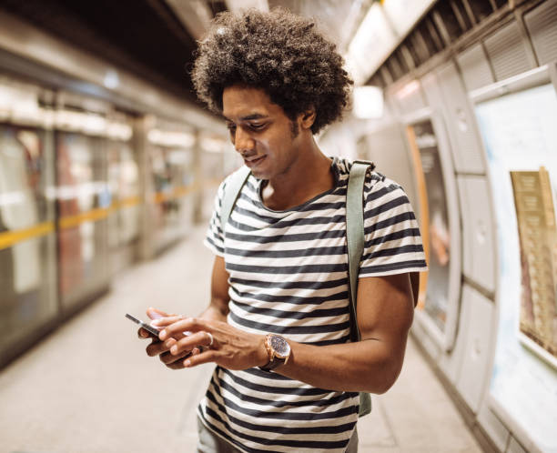
[[[494,96],[476,104],[499,242],[489,401],[525,447],[557,452],[557,93]]]

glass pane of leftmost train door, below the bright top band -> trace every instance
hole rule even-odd
[[[0,356],[56,317],[52,156],[45,131],[0,125]]]

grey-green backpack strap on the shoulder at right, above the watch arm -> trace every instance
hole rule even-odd
[[[371,162],[356,160],[349,172],[349,184],[346,194],[346,240],[349,256],[349,308],[350,308],[350,340],[360,340],[360,329],[356,317],[358,299],[358,271],[364,249],[363,226],[363,188],[368,170],[375,168]],[[358,417],[371,412],[369,393],[360,392],[360,410]]]

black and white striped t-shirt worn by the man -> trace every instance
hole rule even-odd
[[[205,244],[230,275],[228,323],[312,345],[349,341],[346,192],[351,163],[334,158],[334,187],[303,205],[274,211],[249,176],[226,226],[219,186]],[[422,271],[420,231],[399,185],[369,172],[364,186],[365,249],[360,277]],[[343,452],[358,419],[359,396],[330,391],[258,367],[217,367],[198,415],[246,452]]]

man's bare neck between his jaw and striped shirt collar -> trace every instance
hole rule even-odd
[[[261,198],[270,209],[285,210],[302,205],[334,186],[331,160],[311,140],[311,147],[299,154],[289,170],[263,186]]]

